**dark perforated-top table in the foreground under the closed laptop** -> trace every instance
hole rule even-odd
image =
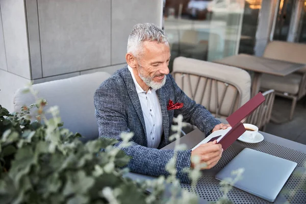
[[[277,137],[274,135],[270,135],[267,133],[260,132],[264,136],[264,140],[260,143],[243,143],[240,141],[236,141],[232,146],[228,147],[222,154],[222,158],[218,162],[218,164],[210,169],[203,170],[202,176],[198,181],[198,185],[196,187],[196,193],[199,197],[199,203],[210,203],[212,201],[217,201],[223,195],[220,191],[219,181],[215,179],[214,175],[220,171],[228,162],[230,162],[234,157],[236,157],[239,152],[245,148],[252,148],[258,151],[265,152],[270,155],[274,155],[276,157],[284,158],[287,160],[291,160],[297,163],[297,167],[295,168],[293,174],[289,177],[287,183],[283,187],[281,193],[278,194],[274,203],[282,203],[284,204],[289,198],[290,204],[301,204],[306,203],[306,192],[299,187],[299,185],[304,184],[306,182],[306,171],[304,168],[304,163],[306,162],[306,145],[293,142],[291,140],[287,140],[281,137]],[[194,147],[200,141],[205,138],[205,135],[200,132],[198,129],[190,132],[189,134],[180,138],[180,143],[184,143],[188,148]],[[170,143],[165,146],[163,149],[173,149],[174,143]],[[251,161],[250,161],[251,162]],[[260,169],[260,168],[259,168]],[[302,176],[295,175],[296,172],[301,172]],[[243,176],[243,174],[242,174]],[[129,177],[132,179],[155,179],[153,176],[146,176],[142,174],[130,173]],[[181,188],[185,190],[191,190],[191,186],[189,184],[181,184]],[[297,189],[295,189],[297,188]],[[292,190],[296,190],[295,195],[292,197],[289,194]],[[169,195],[169,192],[168,192]],[[228,199],[232,200],[234,203],[271,203],[262,198],[249,194],[245,191],[242,191],[237,188],[233,188],[228,194]]]

